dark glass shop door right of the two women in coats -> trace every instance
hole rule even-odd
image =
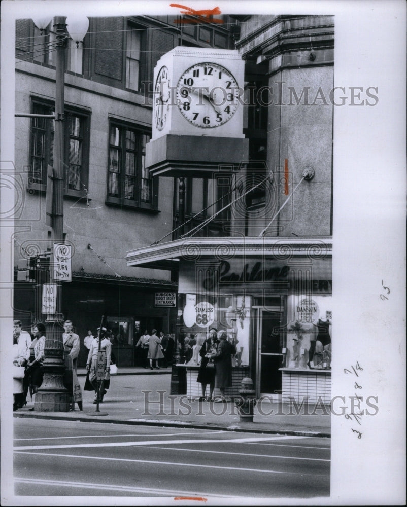
[[[259,309],[258,319],[258,369],[257,385],[259,394],[275,394],[281,389],[283,366],[281,325],[283,313],[275,310]]]

